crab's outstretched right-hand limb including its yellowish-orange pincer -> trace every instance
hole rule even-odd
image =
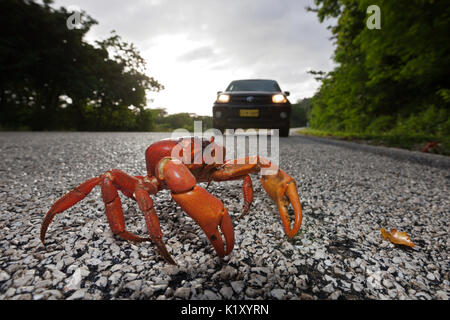
[[[265,172],[269,169],[270,172]],[[244,179],[243,189],[248,190],[249,184],[247,176],[251,173],[262,171],[261,184],[267,194],[275,201],[280,212],[281,221],[286,235],[293,238],[300,230],[302,223],[302,206],[297,193],[297,187],[294,179],[286,172],[272,164],[268,159],[259,156],[245,157],[243,159],[230,160],[214,171],[210,179],[212,181],[230,181],[239,178]],[[244,211],[245,202],[250,199],[249,194],[244,191]],[[294,225],[291,227],[289,221],[289,205],[294,210]]]

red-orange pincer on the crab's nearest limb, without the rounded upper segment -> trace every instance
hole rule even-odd
[[[233,223],[222,201],[199,186],[183,193],[172,192],[172,198],[202,228],[221,258],[233,250]]]

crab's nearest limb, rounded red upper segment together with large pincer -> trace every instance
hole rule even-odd
[[[217,254],[228,255],[233,250],[234,231],[222,201],[197,186],[195,177],[177,159],[163,158],[155,171],[157,179],[164,181],[171,190],[172,198],[202,228]]]

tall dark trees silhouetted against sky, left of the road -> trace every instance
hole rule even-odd
[[[145,74],[133,44],[114,32],[91,45],[97,22],[85,12],[70,30],[52,1],[2,0],[0,127],[31,130],[149,131],[146,92],[163,88]]]

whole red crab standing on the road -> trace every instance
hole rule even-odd
[[[177,157],[173,157],[174,153]],[[86,180],[57,200],[42,222],[42,243],[53,217],[81,201],[99,185],[112,232],[125,240],[136,242],[151,240],[167,262],[176,264],[162,239],[158,216],[150,197],[160,190],[169,189],[173,200],[197,222],[217,254],[224,257],[233,250],[233,223],[222,201],[197,183],[242,179],[244,196],[242,217],[248,213],[253,201],[252,180],[249,174],[269,169],[273,171],[268,172],[270,174],[262,172],[260,181],[264,190],[278,205],[286,235],[293,238],[300,229],[302,209],[295,181],[265,158],[251,156],[225,161],[225,148],[214,142],[214,137],[209,140],[185,137],[153,143],[147,148],[145,159],[146,176],[131,176],[121,170],[109,170],[99,177]],[[149,238],[140,237],[125,229],[122,205],[117,191],[137,201],[145,216]],[[288,213],[290,204],[295,215],[292,227]],[[223,233],[224,239],[219,230]]]

